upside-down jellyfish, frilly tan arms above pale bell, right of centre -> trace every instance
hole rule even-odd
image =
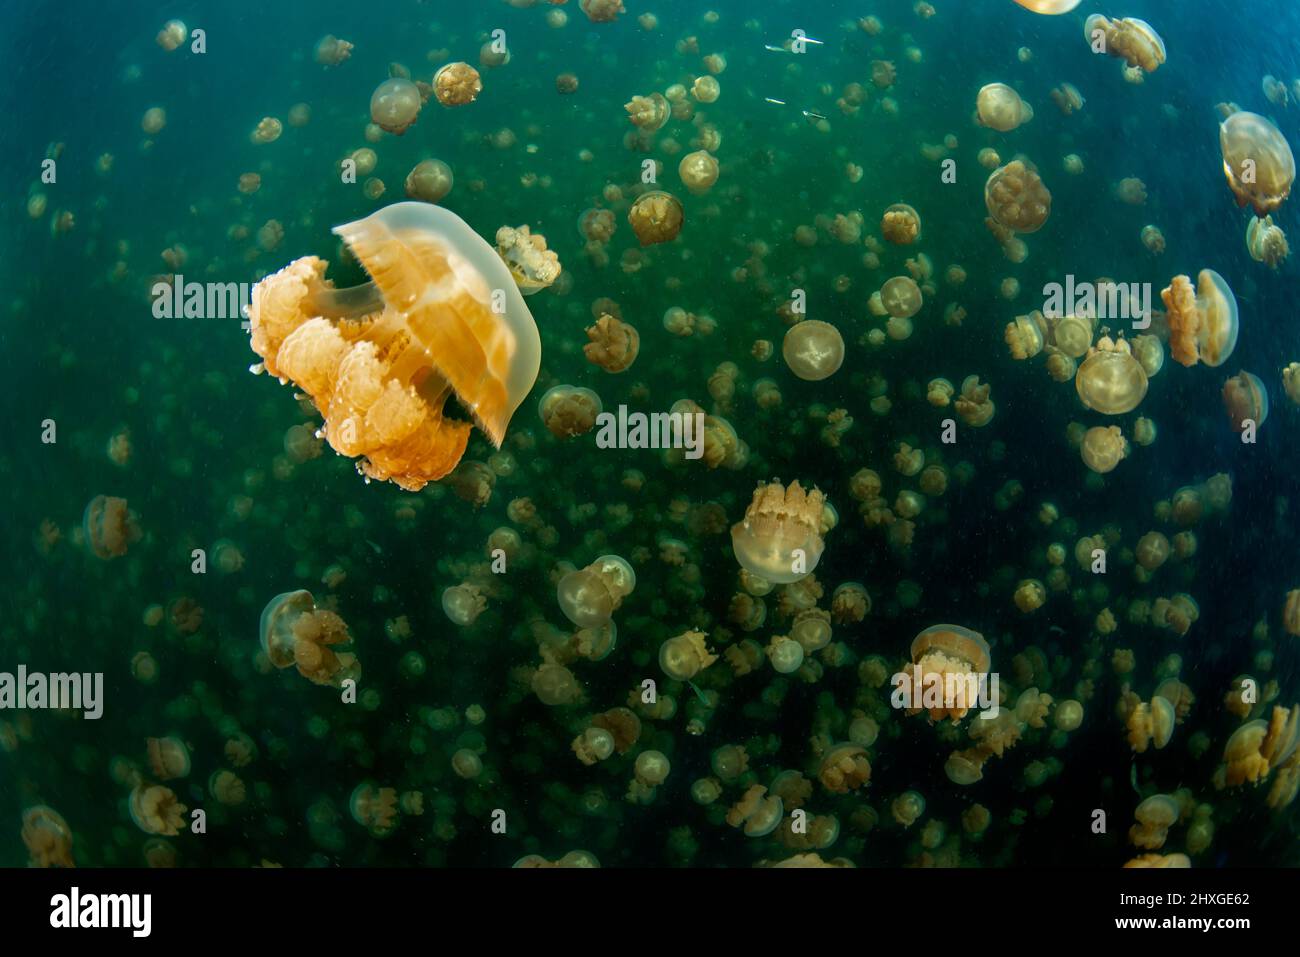
[[[750,575],[776,585],[806,577],[822,560],[822,515],[826,497],[805,492],[798,481],[789,488],[779,481],[759,484],[745,510],[745,518],[732,525],[732,550]]]

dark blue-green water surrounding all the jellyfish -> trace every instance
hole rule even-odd
[[[8,566],[0,671],[26,664],[104,675],[99,720],[55,711],[0,715],[0,814],[10,822],[0,828],[0,862],[27,859],[23,813],[47,805],[74,835],[81,866],[143,865],[146,848],[155,861],[174,854],[187,866],[264,859],[507,866],[525,854],[556,859],[575,849],[604,866],[749,866],[812,849],[789,833],[746,837],[723,819],[746,788],[768,787],[783,770],[810,783],[802,802],[810,815],[838,823],[835,843],[818,853],[859,866],[1041,865],[1062,856],[1118,866],[1143,853],[1127,839],[1136,805],[1175,792],[1184,819],[1160,853],[1190,853],[1193,866],[1300,861],[1295,806],[1270,809],[1266,800],[1284,770],[1273,770],[1258,787],[1214,783],[1225,744],[1243,720],[1266,720],[1274,705],[1290,709],[1300,700],[1300,638],[1286,633],[1282,620],[1286,593],[1300,586],[1292,442],[1300,412],[1280,376],[1300,360],[1296,270],[1294,260],[1270,269],[1248,255],[1251,213],[1236,207],[1225,183],[1216,111],[1234,101],[1271,117],[1295,142],[1300,104],[1269,103],[1261,90],[1265,74],[1288,86],[1300,75],[1295,7],[1135,0],[1123,13],[1160,31],[1167,62],[1132,85],[1118,60],[1088,49],[1083,18],[1110,12],[1092,0],[1062,17],[1035,16],[1011,0],[939,0],[930,20],[894,0],[719,0],[711,5],[718,22],[702,18],[705,5],[685,0],[627,3],[619,22],[590,23],[572,0],[558,8],[568,18],[562,27],[547,25],[550,5],[514,9],[495,0],[285,3],[270,10],[246,3],[110,9],[17,3],[0,13],[10,69],[0,113],[10,131],[0,151],[9,185],[0,195],[8,290],[0,371],[12,397],[0,446],[6,495],[0,547]],[[654,29],[637,23],[646,12],[658,17]],[[881,20],[879,36],[858,29],[867,14]],[[153,38],[170,18],[203,29],[207,52],[195,53],[188,43],[161,49]],[[511,61],[481,69],[477,101],[448,109],[430,100],[400,138],[367,140],[370,92],[390,64],[428,82],[445,62],[477,65],[495,29],[506,31]],[[824,44],[802,55],[764,49],[794,29]],[[316,62],[313,49],[326,34],[355,44],[348,60]],[[682,43],[689,36],[697,43]],[[909,57],[911,47],[920,51],[919,62]],[[1032,51],[1027,62],[1017,57],[1020,47]],[[689,87],[706,73],[702,56],[715,52],[725,57],[722,96],[714,104],[689,95],[686,101],[697,122],[720,134],[712,152],[722,172],[707,195],[694,196],[682,189],[677,163],[697,148],[690,144],[697,126],[673,118],[644,148],[628,148],[624,138],[634,127],[623,104],[675,83]],[[897,65],[892,88],[872,86],[875,60]],[[556,92],[560,73],[578,78],[576,94]],[[991,82],[1014,86],[1035,118],[1011,133],[976,126],[975,96]],[[1087,100],[1072,116],[1062,116],[1049,98],[1063,82]],[[845,114],[836,100],[850,83],[866,87],[867,96],[857,113]],[[287,124],[296,103],[311,107],[302,127]],[[165,127],[153,135],[140,126],[151,107],[166,111]],[[824,116],[827,129],[801,111]],[[266,116],[285,124],[282,135],[251,143],[250,131]],[[502,130],[512,131],[511,146],[502,146]],[[922,153],[922,144],[939,144],[946,134],[958,142],[948,152],[957,161],[954,183],[941,182],[937,160]],[[338,160],[361,147],[378,156],[370,176],[386,187],[381,198],[363,192],[368,177],[344,183],[338,174]],[[1020,264],[1004,257],[983,225],[988,170],[976,155],[985,147],[1002,163],[1024,155],[1052,190],[1050,218],[1023,237],[1030,255]],[[42,160],[51,151],[57,178],[43,185]],[[108,172],[96,169],[104,153],[112,155]],[[1082,159],[1080,174],[1062,168],[1067,153]],[[407,172],[430,157],[455,174],[442,205],[489,241],[500,225],[528,224],[564,265],[562,282],[528,299],[541,330],[541,373],[503,446],[514,471],[497,477],[477,508],[454,482],[419,493],[365,484],[354,463],[328,446],[296,460],[286,432],[316,428],[320,417],[295,403],[292,387],[248,374],[257,356],[239,321],[156,319],[150,300],[160,276],[252,283],[306,255],[337,263],[330,276],[341,282],[358,281],[360,270],[339,263],[329,229],[404,199]],[[664,164],[659,185],[681,199],[686,225],[676,242],[642,250],[627,211],[642,189],[646,157]],[[862,166],[859,182],[845,176],[849,163]],[[261,177],[255,194],[237,189],[244,173]],[[1144,205],[1113,195],[1126,177],[1145,183]],[[621,196],[604,195],[610,186]],[[46,208],[32,218],[35,192],[46,196]],[[864,241],[879,242],[879,217],[897,202],[919,213],[920,241],[880,243],[879,268],[867,268]],[[612,209],[618,222],[604,264],[588,256],[576,226],[592,207]],[[55,231],[62,211],[73,213],[74,225]],[[818,217],[854,211],[862,226],[852,244],[818,226]],[[1274,221],[1290,230],[1291,215],[1284,204]],[[283,237],[265,250],[257,234],[269,220]],[[1162,255],[1139,241],[1147,224],[1164,233]],[[798,226],[816,228],[815,246],[796,242]],[[755,243],[766,250],[760,268]],[[161,254],[177,247],[185,263],[173,268]],[[867,332],[881,329],[883,320],[867,300],[884,280],[906,274],[905,260],[918,252],[935,264],[935,291],[910,338],[874,346]],[[746,260],[748,274],[733,276]],[[944,276],[954,264],[967,276],[959,286]],[[1067,274],[1150,283],[1158,308],[1170,277],[1195,278],[1202,268],[1221,273],[1236,294],[1236,350],[1219,368],[1188,369],[1166,355],[1131,413],[1091,412],[1071,384],[1046,374],[1044,356],[1014,361],[1008,354],[1004,326],[1043,307],[1044,283]],[[998,291],[1008,277],[1020,283],[1010,302]],[[810,319],[842,333],[844,365],[828,380],[801,381],[781,361],[785,324],[776,311],[793,289],[806,290]],[[641,335],[637,361],[620,374],[595,368],[581,352],[601,298],[616,302]],[[959,326],[944,322],[950,303],[966,309]],[[716,330],[671,335],[660,317],[673,306],[712,317]],[[755,339],[774,342],[776,354],[755,359]],[[708,390],[725,361],[738,367],[729,404]],[[1242,369],[1258,376],[1271,399],[1254,443],[1230,428],[1219,395]],[[959,389],[968,374],[992,385],[996,416],[985,428],[962,425],[956,446],[942,446],[940,423],[953,412],[926,402],[926,384],[946,377]],[[777,384],[777,408],[753,399],[760,378]],[[694,399],[731,423],[748,446],[748,463],[670,464],[654,451],[597,449],[594,433],[556,438],[537,406],[558,384],[595,390],[606,410],[625,403],[664,411]],[[892,403],[887,415],[870,407],[881,384]],[[826,412],[837,408],[848,411],[853,428],[829,447],[820,432]],[[1104,477],[1091,473],[1067,441],[1071,423],[1119,425],[1131,439],[1139,416],[1158,428],[1156,442],[1132,445]],[[42,442],[47,420],[56,426],[53,443]],[[124,432],[131,451],[116,464],[105,447]],[[884,505],[892,507],[900,490],[915,490],[918,480],[893,467],[898,442],[924,449],[927,463],[941,464],[949,477],[946,493],[931,497],[915,519],[906,547],[859,518],[850,488],[858,469],[871,468],[884,481]],[[465,460],[488,463],[494,454],[476,432]],[[499,458],[491,462],[510,472]],[[624,482],[627,469],[644,473],[640,490]],[[1184,531],[1160,518],[1157,503],[1217,473],[1231,477],[1231,503],[1191,528],[1195,555],[1171,558],[1150,581],[1135,580],[1138,540],[1150,531],[1170,538]],[[774,477],[818,486],[838,514],[815,570],[824,589],[818,607],[829,611],[835,588],[848,581],[864,584],[874,607],[861,623],[835,625],[833,663],[815,653],[809,659],[819,666],[796,675],[777,675],[764,663],[736,676],[719,659],[696,679],[712,705],[706,706],[690,687],[664,676],[658,650],[686,628],[705,632],[719,653],[746,637],[766,645],[789,633],[776,592],[753,633],[728,618],[741,588],[725,527],[744,518],[755,484]],[[1010,481],[1022,489],[1014,501],[1005,494]],[[83,510],[96,495],[126,499],[142,532],[110,560],[83,541]],[[524,497],[537,506],[536,525],[508,514]],[[1044,503],[1060,514],[1052,525],[1039,519]],[[699,527],[694,519],[710,508],[725,514],[725,525]],[[48,547],[39,547],[43,521],[47,541],[57,532]],[[525,547],[506,575],[493,576],[485,542],[500,527],[516,528]],[[1074,550],[1079,537],[1105,528],[1114,532],[1101,579],[1079,568]],[[664,537],[684,544],[685,564],[660,560]],[[220,544],[238,551],[240,567],[217,568]],[[1023,614],[1013,594],[1022,580],[1049,580],[1052,544],[1065,547],[1063,586]],[[191,571],[194,549],[207,554],[204,575]],[[555,598],[555,580],[568,568],[581,568],[604,554],[632,562],[638,579],[614,614],[618,646],[599,662],[571,661],[582,698],[546,706],[530,688],[540,636],[545,644],[546,635],[573,631]],[[330,588],[322,576],[333,566],[346,579]],[[462,581],[477,581],[488,598],[468,628],[452,624],[441,602],[443,590]],[[263,606],[299,588],[350,628],[363,666],[356,703],[292,668],[259,662]],[[918,589],[919,598],[907,598]],[[1178,593],[1192,596],[1200,610],[1186,636],[1130,620],[1135,602]],[[151,606],[162,609],[153,625]],[[192,606],[202,607],[202,624],[191,629],[192,622],[172,612]],[[1104,609],[1118,622],[1114,633],[1097,633]],[[400,641],[386,633],[399,616],[411,632]],[[988,761],[983,780],[952,783],[945,758],[971,746],[975,719],[945,728],[905,716],[888,706],[888,687],[872,689],[858,667],[879,655],[888,672],[897,671],[913,637],[941,622],[987,637],[1009,703],[1028,687],[1056,702],[1083,698],[1079,729],[1053,736],[1053,705],[1046,727],[1024,728],[1014,748]],[[1045,667],[1027,664],[1037,654],[1031,649]],[[1112,666],[1117,649],[1131,650],[1134,659],[1122,676]],[[140,653],[156,662],[152,683],[139,677]],[[1170,655],[1180,657],[1180,670],[1169,664]],[[1166,748],[1134,754],[1115,714],[1124,685],[1149,701],[1160,680],[1175,674],[1195,703]],[[1244,716],[1223,703],[1239,675],[1253,676],[1269,697]],[[642,714],[630,750],[581,765],[571,741],[594,714],[628,705],[645,679],[676,701],[676,714]],[[1091,689],[1080,689],[1086,679]],[[484,714],[477,726],[464,716],[474,705]],[[861,715],[879,724],[867,748],[870,783],[831,793],[818,781],[820,752],[849,739]],[[237,767],[225,744],[240,735],[257,754]],[[165,736],[185,742],[192,766],[164,783],[150,767],[146,740]],[[712,774],[711,754],[723,745],[746,748],[748,771],[701,806],[692,784]],[[463,749],[480,755],[477,779],[452,771],[452,755]],[[645,750],[667,755],[671,774],[640,804],[625,794]],[[1031,787],[1026,774],[1034,775],[1036,762],[1048,774]],[[213,793],[209,779],[222,770],[243,783],[242,804],[224,805]],[[376,836],[350,813],[354,789],[367,783],[396,794],[419,792],[422,813],[407,810],[391,833]],[[133,787],[153,784],[165,784],[187,809],[204,809],[207,833],[165,836],[168,849],[160,850],[157,835],[133,822],[129,809]],[[926,807],[905,828],[890,809],[907,791],[919,792]],[[979,839],[961,817],[976,802],[992,820]],[[1193,850],[1188,836],[1197,805],[1214,835],[1208,848]],[[1105,835],[1089,828],[1096,809],[1106,811]],[[491,830],[498,810],[506,815],[503,835]]]

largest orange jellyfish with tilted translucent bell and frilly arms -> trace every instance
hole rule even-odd
[[[537,324],[506,263],[447,209],[396,203],[334,231],[372,281],[335,289],[324,260],[290,263],[252,290],[251,345],[312,398],[337,452],[419,492],[469,442],[443,415],[452,393],[500,447],[541,367]]]

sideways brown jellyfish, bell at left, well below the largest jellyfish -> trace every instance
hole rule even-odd
[[[338,688],[360,671],[356,655],[333,650],[352,641],[347,624],[333,611],[317,609],[311,592],[283,592],[266,602],[259,635],[272,664],[298,666],[298,674],[312,684]]]

